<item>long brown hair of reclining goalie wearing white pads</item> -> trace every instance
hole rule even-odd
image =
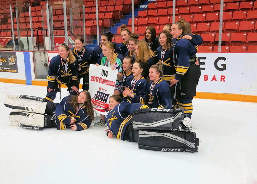
[[[78,107],[78,96],[80,93],[84,93],[86,95],[86,102],[85,105],[87,105],[87,114],[90,115],[90,118],[92,121],[94,121],[94,110],[93,105],[91,103],[91,96],[90,93],[86,90],[80,91],[76,96],[71,95],[68,99],[68,103],[72,104],[73,108],[76,109]]]

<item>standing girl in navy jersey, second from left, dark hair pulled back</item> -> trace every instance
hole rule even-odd
[[[73,55],[78,63],[78,82],[76,87],[79,89],[80,79],[83,79],[82,89],[88,90],[89,87],[89,65],[95,64],[93,51],[89,46],[86,46],[82,37],[75,38],[75,47],[71,48]],[[76,93],[70,93],[76,95]]]

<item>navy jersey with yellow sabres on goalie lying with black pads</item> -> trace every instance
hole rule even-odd
[[[139,103],[121,102],[105,116],[107,127],[118,138],[123,140],[125,130],[132,122],[133,110],[148,108]]]

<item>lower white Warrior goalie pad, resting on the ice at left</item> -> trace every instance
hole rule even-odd
[[[35,114],[35,113],[26,113],[26,112],[11,112],[9,115],[10,119],[10,124],[12,126],[19,126],[22,128],[26,127],[32,127],[31,129],[34,128],[35,130],[39,130],[40,127],[44,127],[44,119],[45,116],[43,114]],[[26,127],[24,127],[24,125]],[[29,128],[30,129],[30,128]]]

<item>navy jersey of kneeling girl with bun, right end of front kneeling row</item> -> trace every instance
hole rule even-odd
[[[151,108],[171,109],[172,101],[170,95],[170,85],[161,78],[154,84],[153,81],[148,85],[148,97],[146,105]]]

